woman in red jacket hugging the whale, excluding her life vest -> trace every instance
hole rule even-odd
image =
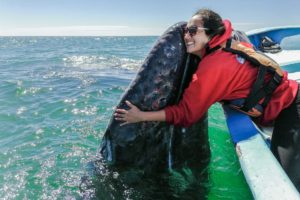
[[[166,121],[190,126],[215,102],[247,98],[257,79],[258,68],[243,57],[219,48],[231,35],[232,27],[228,20],[222,21],[211,10],[196,12],[187,24],[184,40],[187,52],[202,60],[179,104],[160,111],[143,112],[127,101],[130,110],[117,109],[115,119],[122,121],[121,125]],[[261,124],[275,121],[272,152],[300,191],[299,85],[287,79],[287,73],[283,72],[280,84],[270,97],[258,121]]]

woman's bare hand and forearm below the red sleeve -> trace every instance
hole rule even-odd
[[[144,112],[129,101],[125,102],[130,109],[116,109],[114,114],[115,120],[124,122],[120,124],[121,126],[142,121],[166,121],[166,114],[164,110]]]

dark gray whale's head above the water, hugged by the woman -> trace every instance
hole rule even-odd
[[[185,22],[171,26],[156,42],[136,78],[122,96],[118,108],[128,109],[125,100],[144,111],[160,110],[176,103],[180,89],[187,87],[199,59],[189,59],[183,40]],[[188,62],[188,63],[187,63]],[[188,67],[185,72],[185,68]],[[183,80],[183,73],[186,78]],[[207,115],[189,128],[162,122],[143,122],[120,126],[114,117],[107,126],[100,146],[103,158],[114,166],[135,167],[145,173],[172,167],[196,167],[208,163]],[[172,145],[170,145],[170,141]]]

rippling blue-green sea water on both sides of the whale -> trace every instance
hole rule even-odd
[[[1,199],[82,198],[85,166],[156,39],[0,37]],[[209,137],[208,199],[252,199],[218,104]]]

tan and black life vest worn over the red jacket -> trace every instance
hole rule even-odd
[[[222,49],[223,51],[236,54],[249,61],[253,66],[258,67],[257,78],[249,95],[245,99],[224,101],[223,103],[229,104],[231,107],[252,117],[259,117],[270,101],[272,93],[280,85],[283,71],[273,59],[233,38],[214,48],[207,46],[206,53],[209,54]],[[271,78],[265,81],[267,74],[270,74]]]

